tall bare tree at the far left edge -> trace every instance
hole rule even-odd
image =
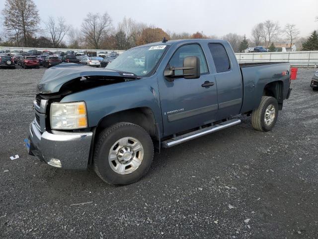
[[[23,46],[27,46],[28,36],[38,31],[40,17],[38,9],[33,0],[5,0],[4,9],[5,30],[16,39],[20,46],[20,39]]]

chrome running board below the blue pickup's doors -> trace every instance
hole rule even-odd
[[[198,129],[198,130],[190,132],[190,133],[186,133],[186,134],[174,137],[174,138],[170,138],[168,140],[162,141],[161,144],[162,144],[163,148],[170,148],[174,145],[189,141],[189,140],[194,139],[194,138],[201,137],[201,136],[209,134],[209,133],[213,133],[215,131],[218,131],[218,130],[221,130],[224,128],[231,127],[233,125],[237,125],[239,123],[240,123],[240,119],[230,119],[230,120],[215,124],[215,125],[210,126],[210,127],[201,128],[201,129]]]

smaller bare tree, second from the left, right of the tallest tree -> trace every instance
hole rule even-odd
[[[44,22],[44,25],[52,41],[53,47],[59,47],[63,38],[70,30],[70,26],[65,24],[65,18],[58,17],[56,21],[53,16],[49,16],[48,21]]]

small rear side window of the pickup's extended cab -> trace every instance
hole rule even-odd
[[[228,53],[224,46],[219,43],[210,43],[209,49],[211,51],[217,72],[229,71],[231,64]]]

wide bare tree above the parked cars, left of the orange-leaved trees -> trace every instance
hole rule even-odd
[[[103,15],[89,12],[81,24],[81,29],[86,43],[98,49],[103,37],[111,29],[111,18],[107,12]]]

